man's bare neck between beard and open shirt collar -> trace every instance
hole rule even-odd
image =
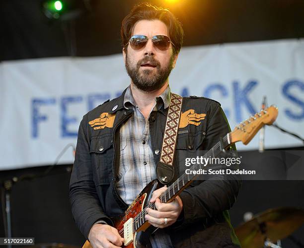
[[[158,90],[153,91],[143,91],[138,89],[135,84],[131,81],[131,91],[133,98],[135,100],[136,105],[141,109],[145,110],[147,108],[151,108],[151,106],[155,103],[155,97],[159,96],[168,86],[168,79],[164,83],[164,85]]]

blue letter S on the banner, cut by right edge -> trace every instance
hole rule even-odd
[[[295,97],[291,92],[290,89],[292,87],[299,88],[301,91],[304,92],[304,83],[299,80],[290,80],[287,81],[282,88],[283,95],[289,99],[290,101],[294,102],[296,105],[298,105],[300,108],[302,108],[302,113],[295,114],[290,109],[285,109],[286,115],[295,120],[302,120],[304,118],[304,102],[301,101],[299,98]]]

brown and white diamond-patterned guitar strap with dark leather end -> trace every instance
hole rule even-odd
[[[163,134],[160,159],[156,165],[156,177],[158,181],[163,185],[169,184],[174,176],[173,161],[182,101],[183,98],[181,96],[171,93],[171,100]]]

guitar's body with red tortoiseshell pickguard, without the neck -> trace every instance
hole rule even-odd
[[[152,198],[152,193],[155,189],[159,188],[161,185],[157,180],[151,181],[136,197],[132,202],[126,212],[122,215],[112,218],[114,227],[118,230],[118,233],[121,234],[122,238],[124,237],[124,224],[130,219],[135,218],[150,202]],[[124,246],[123,248],[142,248],[146,247],[146,244],[149,242],[151,234],[156,230],[155,227],[151,226],[149,222],[145,222],[138,230],[133,232],[133,242]],[[82,248],[92,248],[90,243],[86,241]]]

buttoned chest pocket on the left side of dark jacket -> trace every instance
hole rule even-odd
[[[112,179],[113,144],[111,134],[92,137],[90,154],[96,185],[110,184]]]

